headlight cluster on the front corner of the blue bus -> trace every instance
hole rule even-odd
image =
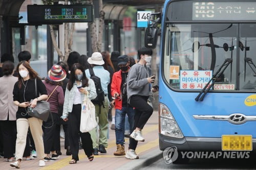
[[[169,109],[160,104],[160,133],[165,136],[183,138],[183,134]]]

